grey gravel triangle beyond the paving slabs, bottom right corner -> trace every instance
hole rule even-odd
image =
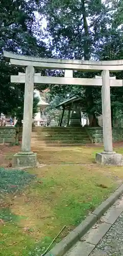
[[[90,256],[123,256],[123,212]]]

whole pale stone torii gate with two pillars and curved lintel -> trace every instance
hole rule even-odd
[[[36,154],[31,152],[31,131],[33,114],[33,90],[34,83],[49,84],[73,84],[80,86],[101,86],[102,87],[102,113],[103,113],[103,137],[104,152],[96,153],[96,162],[101,164],[122,165],[122,155],[113,152],[112,127],[111,127],[111,105],[110,86],[122,86],[122,80],[110,77],[111,72],[123,70],[123,60],[114,61],[86,61],[39,58],[23,56],[4,51],[4,57],[11,65],[26,67],[26,74],[19,73],[18,76],[11,76],[13,83],[25,83],[24,91],[24,113],[21,152],[14,155],[15,166],[36,165]],[[65,70],[64,77],[50,77],[36,74],[34,67],[41,69]],[[95,78],[73,78],[73,70],[102,71],[102,76]]]

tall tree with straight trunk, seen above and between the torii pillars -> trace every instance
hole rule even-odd
[[[107,24],[110,22],[109,8],[105,7],[105,3],[101,0],[53,0],[52,2],[47,0],[40,11],[47,20],[46,30],[52,37],[54,56],[70,59],[99,59],[97,49],[103,45]],[[76,76],[89,78],[94,74],[78,72]],[[99,88],[83,89],[85,111],[88,114],[90,126],[97,125],[95,95],[100,97]]]

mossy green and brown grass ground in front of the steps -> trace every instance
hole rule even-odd
[[[95,153],[102,151],[101,147],[49,150],[37,147],[33,150],[47,166],[28,172],[2,170],[2,256],[41,255],[64,225],[66,228],[57,242],[104,201],[123,179],[122,167],[92,164]],[[122,153],[123,150],[116,148],[115,151]],[[13,190],[11,185],[18,185],[19,189]]]

